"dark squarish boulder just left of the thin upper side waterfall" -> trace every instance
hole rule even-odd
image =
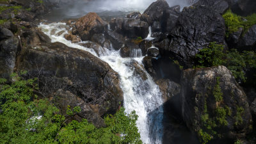
[[[128,38],[146,38],[148,35],[148,24],[139,19],[124,19],[122,33]]]

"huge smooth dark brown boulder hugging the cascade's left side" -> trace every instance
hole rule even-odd
[[[115,112],[123,100],[118,74],[108,63],[58,42],[23,47],[16,67],[30,77],[39,76],[46,96],[60,88],[68,90],[88,104],[99,104],[100,116]]]

